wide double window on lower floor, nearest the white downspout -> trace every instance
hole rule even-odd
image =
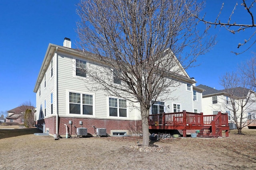
[[[93,115],[93,96],[69,92],[69,113]]]

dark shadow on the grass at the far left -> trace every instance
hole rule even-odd
[[[9,137],[17,137],[22,135],[30,135],[34,133],[42,133],[40,129],[36,128],[23,128],[23,129],[0,129],[0,139]]]

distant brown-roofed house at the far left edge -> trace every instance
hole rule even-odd
[[[19,106],[8,111],[8,116],[6,117],[6,122],[16,122],[23,124],[24,123],[24,109],[34,109],[33,106]]]

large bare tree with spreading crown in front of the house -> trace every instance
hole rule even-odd
[[[178,86],[182,70],[215,42],[214,37],[206,40],[208,27],[202,31],[196,27],[191,14],[197,16],[201,10],[202,4],[194,0],[187,1],[186,7],[184,0],[82,0],[78,4],[80,46],[96,54],[97,64],[102,65],[88,64],[86,74],[96,82],[96,90],[139,104],[143,146],[149,145],[152,101]]]

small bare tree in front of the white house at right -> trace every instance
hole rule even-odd
[[[248,125],[248,113],[256,113],[254,86],[251,79],[245,76],[244,67],[239,73],[226,73],[221,77],[221,85],[229,98],[228,101],[220,102],[221,108],[230,111],[231,121],[236,124],[238,134],[242,134],[242,128]]]

